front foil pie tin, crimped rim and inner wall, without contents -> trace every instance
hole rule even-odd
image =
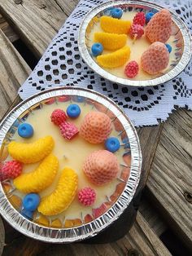
[[[3,183],[0,183],[0,214],[7,220],[12,227],[26,236],[30,236],[39,241],[46,241],[52,243],[70,243],[74,241],[82,241],[92,236],[96,236],[98,232],[102,232],[111,223],[114,223],[120,214],[128,207],[130,201],[136,192],[137,185],[139,183],[141,167],[142,167],[142,153],[140,144],[137,138],[137,132],[134,129],[129,117],[113,102],[111,99],[95,92],[93,90],[81,89],[76,87],[59,87],[46,90],[33,97],[24,100],[17,105],[7,114],[0,124],[0,147],[1,147],[1,159],[3,148],[11,141],[11,136],[15,133],[15,121],[22,121],[22,118],[26,117],[28,113],[33,113],[34,109],[41,108],[46,101],[55,102],[59,97],[70,97],[70,102],[76,101],[76,97],[84,97],[85,104],[90,102],[100,104],[107,111],[110,111],[114,118],[122,126],[120,135],[124,133],[124,136],[129,139],[130,148],[130,166],[129,176],[126,180],[120,180],[124,183],[122,191],[117,196],[116,201],[111,204],[106,212],[100,215],[98,218],[94,218],[89,223],[84,223],[82,220],[81,225],[70,228],[56,228],[45,227],[39,223],[24,218],[20,214],[20,210],[13,206],[9,200],[13,192],[7,192],[3,188]],[[69,102],[69,104],[70,104]],[[126,168],[126,166],[124,166]]]

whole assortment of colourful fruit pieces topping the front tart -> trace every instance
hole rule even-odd
[[[62,101],[63,98],[60,100]],[[51,99],[47,104],[52,104]],[[65,109],[55,108],[55,106],[51,109],[53,111],[50,115],[50,124],[55,126],[61,139],[63,137],[63,142],[72,143],[74,139],[80,136],[87,143],[101,145],[102,149],[92,150],[85,157],[83,166],[80,166],[82,175],[85,175],[85,179],[89,180],[90,186],[79,187],[79,176],[76,170],[68,166],[60,166],[59,158],[53,153],[57,141],[51,135],[33,139],[38,130],[35,130],[26,121],[22,122],[17,129],[18,136],[24,140],[12,140],[7,145],[7,151],[12,160],[4,160],[2,163],[0,181],[6,185],[7,180],[11,180],[13,188],[22,193],[20,213],[30,220],[33,220],[33,216],[37,216],[38,213],[42,216],[40,223],[43,224],[43,216],[56,216],[63,213],[70,207],[74,199],[85,207],[93,206],[93,215],[96,218],[103,214],[106,207],[102,205],[98,210],[94,209],[94,202],[97,198],[97,192],[94,188],[95,186],[98,188],[105,186],[120,176],[120,162],[114,153],[127,142],[121,145],[119,138],[110,136],[113,130],[113,121],[99,109],[92,109],[85,114],[80,127],[75,125],[75,121],[82,112],[79,104],[72,104],[71,102]],[[28,143],[28,139],[33,140]],[[34,163],[38,164],[34,170],[23,171],[25,165]],[[41,196],[40,193],[49,188],[55,181],[60,167],[63,170],[59,174],[55,190],[49,195]],[[126,175],[124,179],[127,179]],[[94,185],[93,188],[91,184]],[[91,219],[90,216],[87,217],[87,220]]]

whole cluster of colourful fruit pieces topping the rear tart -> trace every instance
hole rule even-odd
[[[107,12],[108,11],[108,12]],[[103,68],[118,68],[123,66],[126,77],[137,77],[140,68],[150,75],[163,73],[169,64],[169,54],[172,46],[168,39],[172,34],[172,16],[167,9],[159,12],[137,12],[133,20],[123,19],[120,7],[107,10],[108,15],[99,19],[102,32],[94,33],[94,44],[91,55]],[[142,52],[139,63],[136,60],[128,62],[136,40],[142,37],[151,43]],[[133,43],[127,44],[132,40]],[[109,51],[103,54],[103,51]]]

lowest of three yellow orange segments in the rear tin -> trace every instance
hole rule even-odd
[[[97,57],[98,64],[104,68],[117,68],[123,66],[129,60],[130,48],[124,46],[120,50],[108,53],[107,55],[99,55]]]

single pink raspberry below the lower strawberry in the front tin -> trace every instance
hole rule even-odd
[[[82,188],[78,192],[78,199],[82,205],[85,205],[85,206],[93,205],[96,199],[96,193],[92,188]]]

